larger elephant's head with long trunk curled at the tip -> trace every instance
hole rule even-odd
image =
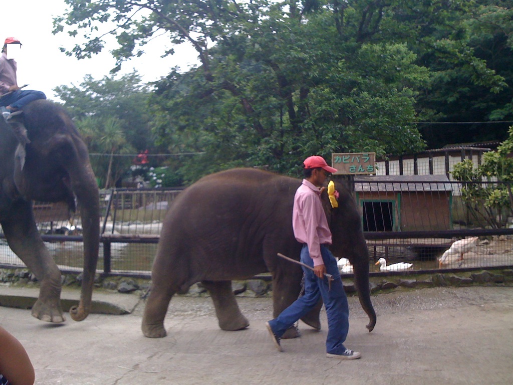
[[[81,321],[91,308],[100,238],[98,186],[87,147],[65,110],[46,100],[28,104],[8,122],[18,139],[12,161],[15,192],[25,201],[64,201],[70,211],[75,210],[76,197],[84,236],[84,274],[80,304],[70,315]]]

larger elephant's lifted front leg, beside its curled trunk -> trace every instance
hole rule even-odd
[[[61,272],[37,232],[29,202],[17,201],[2,219],[2,227],[12,251],[41,283],[32,316],[47,322],[64,322],[61,308]]]

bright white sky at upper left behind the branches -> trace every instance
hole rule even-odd
[[[60,85],[75,85],[82,83],[86,74],[94,79],[110,76],[109,71],[114,67],[115,60],[110,50],[117,48],[106,46],[102,53],[91,59],[77,60],[66,56],[59,48],[71,49],[74,42],[83,42],[79,37],[74,40],[66,32],[52,34],[52,22],[55,15],[64,13],[66,4],[63,0],[11,0],[2,1],[2,22],[0,23],[0,43],[3,45],[6,37],[15,37],[23,46],[10,46],[10,57],[16,60],[18,85],[28,84],[27,89],[46,93],[48,99],[57,100],[52,88]],[[84,33],[78,31],[77,36]],[[167,45],[167,47],[166,47]],[[180,66],[186,70],[188,65],[198,62],[197,52],[184,44],[174,46],[175,54],[162,59],[160,56],[171,44],[166,38],[155,39],[150,46],[145,46],[147,52],[141,57],[125,62],[121,73],[131,72],[134,68],[142,76],[143,81],[150,82],[160,79],[169,73],[169,69]]]

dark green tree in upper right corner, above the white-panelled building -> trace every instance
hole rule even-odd
[[[505,140],[507,121],[513,120],[511,2],[468,3],[471,9],[460,16],[456,26],[447,24],[442,29],[457,40],[442,40],[439,32],[431,37],[432,49],[420,56],[436,76],[430,89],[420,93],[418,106],[424,111],[424,119],[431,122],[490,123],[422,125],[421,132],[431,148],[446,143]]]

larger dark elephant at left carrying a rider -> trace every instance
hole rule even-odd
[[[40,293],[32,316],[64,322],[61,273],[37,231],[32,201],[66,202],[80,208],[84,238],[81,299],[72,306],[73,320],[85,319],[100,244],[100,199],[87,146],[65,109],[47,100],[33,101],[0,119],[0,224],[12,251],[38,281]]]

